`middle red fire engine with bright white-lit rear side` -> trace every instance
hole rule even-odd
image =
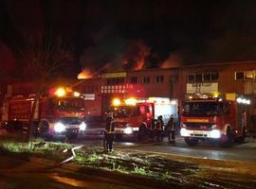
[[[143,138],[147,134],[152,117],[156,119],[162,115],[164,123],[167,123],[171,114],[177,116],[177,101],[164,97],[131,97],[123,100],[115,98],[111,112],[115,118],[117,138],[121,138],[123,134],[136,134],[138,138]]]

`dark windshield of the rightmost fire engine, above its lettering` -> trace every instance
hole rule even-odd
[[[212,116],[219,114],[218,102],[185,102],[182,107],[185,116]]]

